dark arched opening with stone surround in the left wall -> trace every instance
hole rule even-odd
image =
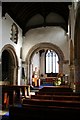
[[[7,44],[2,48],[2,82],[3,84],[17,85],[18,59],[15,49]]]

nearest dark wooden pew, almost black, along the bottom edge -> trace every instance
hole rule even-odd
[[[80,108],[60,107],[60,106],[41,106],[26,104],[24,106],[10,106],[10,120],[29,120],[29,119],[69,119],[80,118]]]

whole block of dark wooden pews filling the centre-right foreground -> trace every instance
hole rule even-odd
[[[9,114],[11,120],[79,119],[80,93],[65,86],[43,87],[35,95],[23,98],[20,106],[10,106]]]

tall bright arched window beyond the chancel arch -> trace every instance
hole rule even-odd
[[[46,73],[59,73],[59,58],[55,51],[47,50],[46,52]]]

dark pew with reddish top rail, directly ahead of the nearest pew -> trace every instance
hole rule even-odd
[[[23,99],[22,104],[80,108],[80,101],[68,101],[68,100]]]

